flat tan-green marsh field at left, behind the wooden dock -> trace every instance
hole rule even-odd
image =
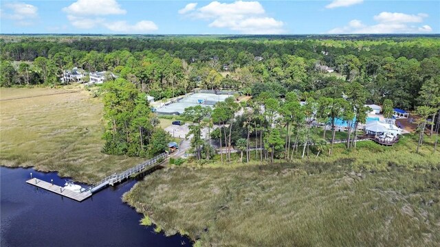
[[[76,89],[0,89],[0,164],[92,183],[139,158],[100,152],[102,103]]]

